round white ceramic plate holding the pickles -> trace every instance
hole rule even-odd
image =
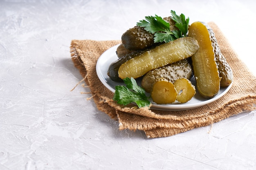
[[[108,77],[108,75],[107,75],[108,67],[110,66],[110,64],[118,59],[118,57],[116,55],[117,46],[119,46],[119,45],[113,46],[110,49],[108,49],[107,51],[105,51],[99,57],[97,65],[96,65],[96,71],[97,71],[97,75],[98,75],[99,79],[101,80],[103,85],[106,86],[106,88],[108,88],[113,93],[115,93],[115,86],[125,85],[123,82],[112,81],[110,79],[110,77]],[[137,81],[137,84],[139,86],[141,86],[141,79],[136,79],[136,81]],[[195,82],[193,82],[193,80],[191,80],[191,81],[193,84],[195,84]],[[175,102],[173,104],[155,104],[151,99],[150,102],[153,104],[151,109],[175,111],[175,110],[188,110],[188,109],[198,108],[200,106],[204,106],[206,104],[209,104],[209,103],[214,102],[215,100],[219,99],[220,97],[222,97],[229,91],[231,86],[232,86],[232,84],[230,84],[229,86],[227,86],[225,88],[220,88],[218,95],[216,95],[215,97],[213,97],[211,99],[204,99],[197,92],[196,95],[189,102],[186,102],[183,104],[178,103],[178,102]]]

